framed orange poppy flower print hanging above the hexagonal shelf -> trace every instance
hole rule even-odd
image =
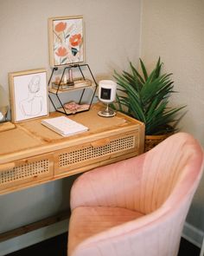
[[[50,66],[58,67],[85,61],[83,16],[58,16],[48,19]]]

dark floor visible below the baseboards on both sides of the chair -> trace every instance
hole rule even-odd
[[[178,256],[199,256],[200,249],[187,240],[182,239]],[[34,246],[29,246],[16,253],[10,253],[6,256],[66,256],[67,255],[67,233],[63,233],[52,239],[45,240]]]

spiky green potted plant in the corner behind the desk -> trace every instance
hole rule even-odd
[[[163,62],[160,57],[156,67],[150,72],[140,59],[141,72],[130,62],[131,71],[122,74],[114,72],[119,88],[116,104],[112,107],[130,115],[145,124],[145,151],[153,148],[158,142],[175,133],[178,112],[185,108],[169,107],[169,96],[174,93],[174,82],[170,74],[161,75]],[[180,115],[181,117],[181,115]]]

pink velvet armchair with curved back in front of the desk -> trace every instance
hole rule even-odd
[[[68,256],[175,256],[203,151],[178,133],[145,154],[82,174],[71,191]]]

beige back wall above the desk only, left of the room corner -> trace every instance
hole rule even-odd
[[[8,72],[48,66],[48,17],[84,16],[86,62],[94,75],[111,75],[139,55],[140,1],[1,0],[0,84]]]

